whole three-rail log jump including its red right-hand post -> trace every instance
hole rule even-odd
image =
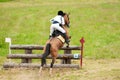
[[[81,46],[69,46],[62,47],[60,50],[64,50],[64,54],[59,54],[57,59],[62,59],[62,64],[55,65],[56,68],[82,68],[82,58],[83,58],[83,44],[84,39],[80,40]],[[7,55],[8,59],[22,59],[20,64],[13,63],[5,63],[3,65],[4,68],[12,68],[12,67],[40,67],[40,64],[33,64],[32,59],[41,59],[42,54],[33,54],[33,50],[43,50],[43,46],[40,45],[11,45],[11,50],[24,50],[25,54],[16,53]],[[72,54],[73,50],[79,50],[79,54]],[[47,59],[51,59],[51,55],[47,57]],[[71,64],[71,59],[80,60],[79,64]],[[46,65],[47,68],[49,65]]]

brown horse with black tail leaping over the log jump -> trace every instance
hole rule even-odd
[[[68,34],[68,27],[69,27],[69,24],[70,24],[69,14],[64,13],[63,17],[64,17],[65,25],[62,26],[62,27],[66,31],[67,39],[70,39],[70,36]],[[46,64],[46,57],[49,54],[51,54],[51,56],[52,56],[52,62],[50,64],[50,72],[49,73],[50,74],[52,73],[53,65],[54,65],[55,60],[58,56],[58,50],[61,47],[63,47],[64,43],[65,43],[65,39],[62,36],[62,33],[60,31],[55,31],[54,36],[46,42],[46,45],[43,49],[43,55],[42,55],[41,67],[40,67],[39,73],[42,72],[42,68]],[[68,44],[68,46],[69,46],[69,44]]]

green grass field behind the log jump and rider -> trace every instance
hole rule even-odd
[[[49,36],[49,20],[58,10],[71,13],[71,45],[80,45],[79,40],[84,37],[86,58],[120,58],[119,0],[1,2],[0,56],[8,54],[5,37],[11,37],[12,44],[44,45]]]

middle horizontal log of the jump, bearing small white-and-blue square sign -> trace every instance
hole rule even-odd
[[[7,58],[9,59],[41,59],[42,54],[8,54]],[[51,55],[47,59],[51,59]],[[57,59],[80,59],[80,55],[77,54],[59,54]]]

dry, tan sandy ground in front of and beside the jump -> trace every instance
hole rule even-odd
[[[79,63],[79,62],[76,62]],[[120,59],[84,59],[83,69],[44,69],[42,75],[39,69],[9,69],[0,70],[0,80],[119,80]]]

